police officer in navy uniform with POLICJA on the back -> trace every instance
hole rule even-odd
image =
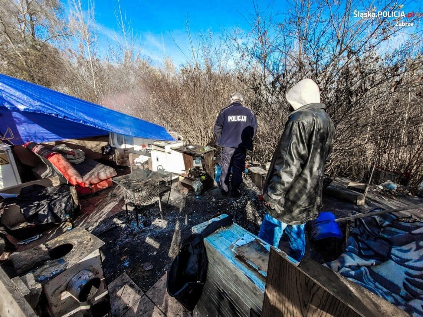
[[[223,195],[228,194],[232,169],[231,194],[239,196],[242,172],[245,170],[245,156],[247,150],[253,149],[252,139],[257,132],[256,114],[242,103],[242,95],[233,93],[230,96],[230,105],[220,111],[214,124],[217,145],[222,147],[220,189]]]

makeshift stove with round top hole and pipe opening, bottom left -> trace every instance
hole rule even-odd
[[[31,250],[12,254],[18,274],[12,279],[27,288],[33,308],[53,317],[101,317],[110,312],[99,248],[104,242],[75,228]],[[47,306],[47,307],[43,307]]]

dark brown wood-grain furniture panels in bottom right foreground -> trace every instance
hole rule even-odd
[[[283,278],[281,278],[283,276]],[[272,247],[263,317],[406,317],[406,312],[312,260],[298,266]]]

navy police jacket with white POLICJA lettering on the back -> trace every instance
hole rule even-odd
[[[216,144],[222,147],[242,147],[252,150],[252,139],[256,132],[256,114],[239,102],[233,102],[220,110],[214,124]]]

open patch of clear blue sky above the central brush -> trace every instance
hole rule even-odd
[[[86,8],[86,0],[81,2]],[[277,2],[274,10],[283,9],[284,1]],[[260,5],[268,6],[269,3]],[[179,65],[186,61],[186,56],[190,56],[185,30],[187,19],[195,40],[200,33],[212,32],[213,37],[217,38],[224,30],[241,29],[248,32],[251,14],[254,13],[252,0],[120,0],[120,6],[142,54],[156,64],[160,64],[165,56],[170,56]],[[108,44],[121,36],[117,10],[118,0],[94,0],[100,51],[106,51]]]

